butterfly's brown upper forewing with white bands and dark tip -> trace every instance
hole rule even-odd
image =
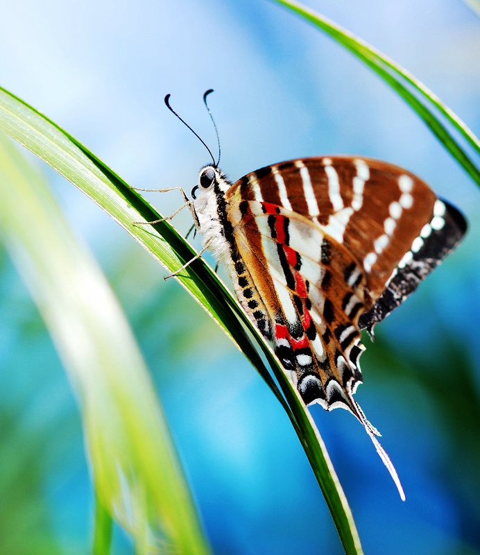
[[[354,257],[350,281],[365,281],[361,328],[372,330],[449,254],[466,230],[463,216],[418,177],[363,157],[282,162],[235,183],[244,200],[302,214]],[[390,286],[390,287],[389,287]],[[378,300],[377,305],[375,302]]]

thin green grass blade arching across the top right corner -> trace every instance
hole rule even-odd
[[[470,157],[463,151],[463,148],[458,145],[452,135],[447,131],[443,123],[440,123],[438,118],[429,110],[424,104],[422,104],[414,94],[412,94],[409,89],[402,84],[402,82],[395,77],[400,77],[404,83],[410,85],[418,94],[420,94],[424,99],[428,101],[434,108],[436,108],[440,114],[452,124],[452,126],[460,133],[466,141],[474,148],[474,151],[480,153],[480,142],[479,139],[474,135],[472,130],[463,123],[463,121],[448,108],[438,96],[436,96],[431,90],[426,87],[421,81],[416,79],[409,71],[402,68],[397,63],[393,62],[390,58],[385,56],[383,53],[374,49],[370,44],[360,40],[355,37],[349,31],[331,22],[327,17],[310,10],[302,4],[291,1],[291,0],[274,0],[275,2],[282,4],[286,8],[289,8],[296,14],[300,15],[303,19],[306,19],[314,26],[320,28],[322,31],[327,33],[336,42],[341,44],[352,52],[357,58],[362,60],[372,71],[375,71],[382,79],[388,83],[402,98],[406,103],[420,116],[420,118],[427,123],[427,126],[436,135],[438,140],[445,146],[447,151],[455,158],[455,160],[460,164],[463,169],[468,173],[468,175],[480,185],[480,172],[479,169],[474,165]]]

